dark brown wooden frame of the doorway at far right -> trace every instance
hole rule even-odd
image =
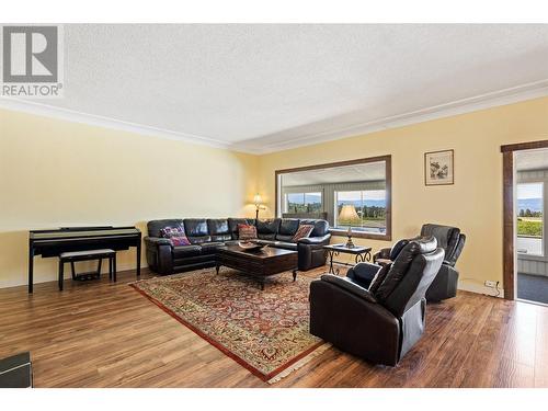
[[[548,140],[518,142],[501,146],[502,152],[502,264],[504,298],[515,299],[515,254],[514,254],[514,152],[548,148]]]

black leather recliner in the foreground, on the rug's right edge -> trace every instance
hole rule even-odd
[[[346,277],[322,275],[310,284],[310,332],[372,363],[397,365],[424,332],[424,295],[443,259],[434,237],[421,238],[383,267],[358,263]]]

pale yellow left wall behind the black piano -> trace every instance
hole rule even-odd
[[[256,168],[256,156],[0,110],[0,287],[26,284],[30,229],[253,216]],[[119,269],[134,259],[122,252]],[[36,258],[35,282],[56,263]]]

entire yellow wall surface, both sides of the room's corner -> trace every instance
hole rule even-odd
[[[461,287],[478,288],[502,281],[500,146],[539,139],[548,98],[259,157],[0,110],[0,287],[26,284],[30,229],[252,216],[255,191],[272,216],[275,170],[391,155],[393,241],[426,221],[460,227]],[[455,185],[424,186],[424,152],[449,148]],[[134,255],[121,254],[122,270]],[[54,279],[56,261],[36,258],[35,270]]]

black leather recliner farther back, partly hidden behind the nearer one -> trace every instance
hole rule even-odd
[[[466,236],[460,232],[457,227],[441,226],[437,224],[425,224],[422,226],[421,236],[434,236],[438,247],[445,251],[445,260],[436,275],[436,278],[426,292],[429,301],[437,302],[447,298],[453,298],[457,295],[458,271],[455,267],[457,259],[465,247]],[[400,242],[409,242],[410,240],[400,240],[391,249],[381,249],[373,255],[374,262],[390,261],[391,250],[401,247]],[[399,244],[399,246],[398,246]]]

